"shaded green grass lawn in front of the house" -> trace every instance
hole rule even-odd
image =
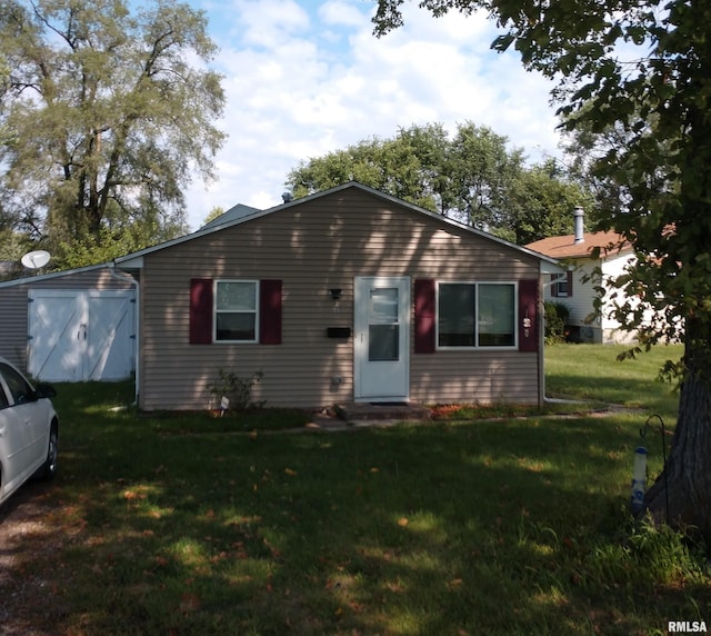
[[[48,523],[61,548],[22,564],[60,609],[38,607],[37,625],[629,635],[709,622],[702,555],[627,511],[639,427],[662,406],[673,418],[673,399],[652,362],[612,352],[550,349],[549,387],[639,413],[226,435],[110,410],[130,401],[123,385],[60,386]]]

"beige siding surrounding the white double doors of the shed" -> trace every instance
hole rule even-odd
[[[28,292],[31,289],[132,289],[106,268],[56,272],[0,284],[0,356],[23,371],[28,355]]]

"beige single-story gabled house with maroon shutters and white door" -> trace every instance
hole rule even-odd
[[[557,261],[350,182],[116,259],[139,281],[139,406],[537,404]]]

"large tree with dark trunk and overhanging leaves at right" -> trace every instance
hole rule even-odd
[[[375,30],[402,23],[402,0],[379,0]],[[698,528],[711,545],[711,3],[707,0],[423,0],[434,16],[482,9],[527,68],[554,81],[569,129],[614,128],[594,166],[618,187],[601,223],[632,241],[638,265],[618,281],[667,320],[654,345],[684,341],[679,416],[667,466],[645,496],[659,520]],[[628,326],[640,311],[629,307]],[[681,326],[681,327],[680,327]],[[667,506],[669,503],[669,506]]]

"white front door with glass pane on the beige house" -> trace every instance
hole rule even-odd
[[[356,279],[354,398],[401,401],[410,395],[410,279]]]

